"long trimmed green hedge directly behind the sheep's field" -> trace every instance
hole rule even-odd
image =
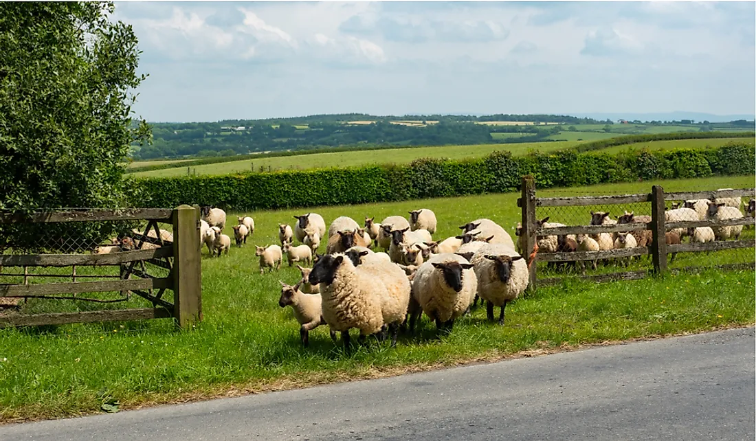
[[[134,190],[146,207],[197,203],[251,211],[504,193],[518,190],[525,174],[534,175],[539,188],[547,188],[754,173],[754,147],[730,143],[704,150],[617,155],[565,151],[517,158],[494,152],[463,161],[417,159],[407,165],[141,178]]]

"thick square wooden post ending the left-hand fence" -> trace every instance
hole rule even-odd
[[[184,329],[202,320],[199,219],[199,212],[190,205],[173,210],[173,313]]]

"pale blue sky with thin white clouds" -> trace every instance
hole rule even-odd
[[[754,2],[116,2],[150,122],[753,114]]]

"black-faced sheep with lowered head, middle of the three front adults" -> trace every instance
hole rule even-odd
[[[478,281],[472,264],[451,253],[435,254],[417,268],[408,308],[410,332],[421,313],[435,321],[438,331],[451,332],[454,320],[472,304]]]

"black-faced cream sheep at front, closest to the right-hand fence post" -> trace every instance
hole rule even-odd
[[[500,307],[499,325],[504,324],[504,308],[528,287],[528,266],[522,256],[502,244],[482,246],[472,256],[477,293],[486,301],[486,316],[494,321],[494,307]],[[474,302],[473,302],[474,303]]]

